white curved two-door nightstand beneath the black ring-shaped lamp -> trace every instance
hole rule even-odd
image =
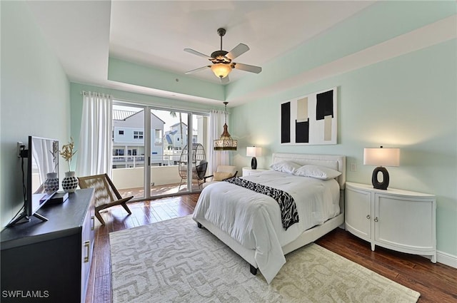
[[[436,198],[346,182],[346,230],[375,246],[431,256],[436,262]]]

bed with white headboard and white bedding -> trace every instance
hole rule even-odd
[[[273,197],[228,182],[204,188],[193,215],[199,227],[246,260],[252,274],[260,269],[268,284],[286,262],[284,255],[344,223],[345,156],[273,153],[273,165],[281,167],[283,163],[318,165],[341,175],[319,180],[276,169],[243,177],[246,182],[278,188],[293,197],[299,220],[287,228]]]

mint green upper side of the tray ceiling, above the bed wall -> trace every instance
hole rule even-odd
[[[329,4],[330,5],[330,4]],[[273,91],[277,83],[456,14],[456,1],[378,1],[226,86],[226,99]],[[272,41],[272,43],[274,43]]]

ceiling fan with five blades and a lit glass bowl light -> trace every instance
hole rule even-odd
[[[226,30],[218,29],[217,34],[221,36],[221,50],[214,51],[213,53],[211,53],[211,56],[207,56],[204,53],[194,51],[191,48],[184,48],[184,51],[206,58],[213,63],[209,66],[203,66],[201,68],[193,69],[192,71],[187,71],[186,74],[195,73],[196,71],[203,71],[206,68],[211,68],[211,71],[214,72],[216,77],[221,78],[222,83],[228,83],[228,75],[231,72],[232,68],[239,69],[240,71],[249,71],[251,73],[260,73],[262,71],[262,68],[258,66],[251,66],[248,64],[233,62],[232,60],[234,58],[242,55],[243,53],[246,53],[246,51],[249,50],[248,46],[246,44],[239,43],[238,46],[233,48],[231,51],[224,51],[222,50],[222,37],[226,34]]]

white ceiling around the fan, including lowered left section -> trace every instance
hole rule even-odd
[[[107,80],[109,56],[184,74],[219,50],[245,43],[238,63],[263,66],[373,1],[28,1],[70,81],[169,97],[169,92]],[[248,74],[233,70],[231,81]],[[211,70],[191,75],[220,83]],[[175,94],[176,95],[176,94]],[[192,100],[194,97],[174,96]],[[195,99],[195,98],[194,98]]]

